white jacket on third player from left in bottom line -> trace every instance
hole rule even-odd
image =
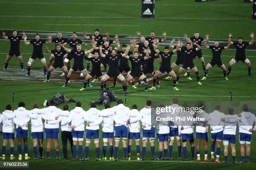
[[[31,120],[31,132],[44,132],[42,117],[38,112],[40,112],[39,109],[35,108],[28,113]]]

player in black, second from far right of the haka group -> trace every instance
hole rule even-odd
[[[209,35],[207,34],[209,37]],[[228,43],[227,46],[220,46],[219,41],[215,40],[214,45],[207,45],[207,40],[204,40],[205,48],[211,49],[212,50],[212,60],[207,64],[205,68],[205,75],[202,77],[201,80],[206,80],[206,75],[208,73],[208,70],[213,67],[215,64],[218,65],[223,70],[223,75],[224,75],[224,80],[228,80],[226,77],[227,75],[227,70],[223,62],[221,61],[221,52],[223,49],[228,49],[230,47],[230,43]]]

